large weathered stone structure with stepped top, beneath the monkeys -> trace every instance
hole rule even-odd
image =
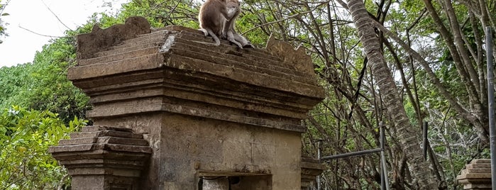
[[[289,190],[301,188],[302,172],[304,179],[320,173],[321,165],[302,162],[301,155],[301,134],[307,130],[301,121],[324,99],[303,48],[294,50],[272,37],[265,49],[197,41],[211,38],[181,26],[150,29],[141,17],[106,29],[95,26],[77,37],[78,64],[67,77],[91,97],[87,116],[95,126],[50,152],[70,168],[87,167],[77,164],[85,159],[77,155],[87,152],[134,155],[98,157],[114,164],[94,164],[104,169],[79,172],[73,181],[88,175],[109,177],[107,184],[122,176],[137,181],[92,189]],[[133,144],[139,140],[124,140],[128,147],[121,149],[98,140],[119,129],[144,139],[150,150],[142,142]],[[78,143],[86,148],[71,148]],[[141,169],[106,172],[136,157],[142,160],[131,165]]]

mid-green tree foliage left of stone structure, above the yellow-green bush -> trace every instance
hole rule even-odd
[[[74,38],[59,38],[43,46],[33,63],[0,69],[0,108],[19,105],[57,113],[66,122],[84,118],[89,98],[67,80],[75,65]]]

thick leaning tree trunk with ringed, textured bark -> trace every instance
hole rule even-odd
[[[380,43],[373,29],[373,21],[365,10],[362,0],[348,1],[348,10],[358,30],[365,55],[371,63],[372,72],[377,85],[382,92],[387,111],[391,114],[401,140],[404,154],[412,169],[412,174],[418,180],[419,189],[438,189],[435,177],[429,169],[429,163],[422,158],[417,135],[419,129],[409,123],[407,113],[397,93],[395,81],[385,62]]]

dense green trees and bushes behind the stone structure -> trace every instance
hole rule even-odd
[[[439,189],[461,189],[456,175],[464,164],[488,157],[483,28],[495,27],[496,13],[494,1],[478,2],[486,6],[468,1],[365,1],[375,21],[371,26],[380,28],[375,33],[408,117],[409,135],[420,141],[421,123],[429,121],[426,164]],[[372,69],[376,63],[364,57],[343,4],[246,0],[236,28],[258,47],[273,33],[311,53],[327,97],[304,122],[309,128],[304,155],[316,157],[317,149],[336,155],[377,147],[381,121],[386,126],[390,184],[395,189],[418,189],[413,174],[419,171],[409,167],[414,163],[399,138],[399,129],[405,126],[387,109],[379,76]],[[84,113],[91,108],[88,97],[65,77],[75,65],[75,35],[89,32],[94,24],[106,28],[122,23],[128,16],[144,16],[153,27],[197,28],[198,9],[195,1],[132,0],[116,15],[95,13],[88,23],[45,45],[33,62],[1,68],[0,142],[5,148],[0,150],[0,189],[53,189],[67,182],[60,181],[65,172],[46,148],[83,125]],[[377,154],[331,160],[327,166],[322,186],[329,189],[379,186]]]

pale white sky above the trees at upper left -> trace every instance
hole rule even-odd
[[[7,1],[1,0],[1,4]],[[9,13],[9,16],[0,17],[4,23],[8,23],[6,33],[9,34],[2,38],[4,43],[0,44],[0,67],[33,62],[35,52],[41,51],[43,45],[53,39],[42,35],[63,36],[68,28],[75,30],[77,26],[86,23],[93,13],[102,11],[115,13],[120,9],[121,4],[127,1],[11,0],[3,12]],[[111,2],[112,7],[104,6],[105,2]],[[54,16],[54,13],[57,16]]]

